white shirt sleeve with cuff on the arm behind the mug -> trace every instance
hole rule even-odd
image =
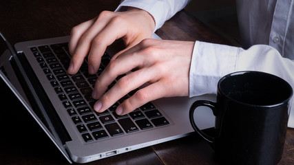
[[[239,71],[260,71],[286,80],[294,89],[294,61],[283,58],[268,45],[253,45],[248,50],[240,47],[196,41],[189,74],[189,96],[216,94],[218,80]],[[292,105],[294,104],[292,98]],[[294,105],[288,126],[294,127]]]

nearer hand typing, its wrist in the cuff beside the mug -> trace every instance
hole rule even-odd
[[[193,45],[194,42],[190,41],[145,39],[129,50],[116,54],[96,80],[92,98],[99,100],[94,104],[95,111],[105,111],[129,91],[145,83],[149,85],[118,106],[118,115],[129,113],[158,98],[188,96]],[[120,78],[105,93],[117,76],[130,71],[134,72]]]

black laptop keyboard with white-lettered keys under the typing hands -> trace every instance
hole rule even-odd
[[[105,53],[101,58],[101,66],[97,74],[90,75],[87,71],[87,58],[77,74],[69,75],[66,69],[70,65],[68,53],[68,43],[42,45],[31,47],[32,53],[36,57],[39,65],[57,96],[64,105],[68,115],[72,118],[72,123],[81,133],[85,142],[102,140],[109,137],[124,135],[154,129],[158,126],[169,124],[167,118],[151,102],[135,109],[127,115],[117,115],[115,110],[118,105],[132,96],[138,89],[129,92],[118,102],[109,107],[103,113],[94,111],[93,106],[96,100],[91,97],[96,78],[103,72],[103,69],[110,61],[110,56]],[[120,78],[118,76],[109,85],[110,89]]]

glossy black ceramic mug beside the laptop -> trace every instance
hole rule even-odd
[[[277,164],[282,158],[293,89],[285,80],[263,72],[235,72],[218,82],[217,101],[197,100],[190,122],[216,151],[221,164]],[[194,121],[197,107],[216,116],[215,135]],[[197,113],[195,114],[197,115]]]

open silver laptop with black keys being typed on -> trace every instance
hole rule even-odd
[[[96,100],[91,98],[94,82],[111,56],[121,50],[121,43],[107,47],[96,75],[87,74],[87,59],[78,74],[68,75],[70,36],[25,41],[12,47],[0,35],[1,78],[70,163],[92,162],[187,136],[194,132],[189,122],[191,104],[200,99],[216,100],[214,95],[161,98],[127,115],[116,115],[118,104],[134,90],[107,111],[96,113]],[[160,39],[156,34],[154,38]],[[200,129],[213,127],[214,119],[211,110],[198,108]]]

